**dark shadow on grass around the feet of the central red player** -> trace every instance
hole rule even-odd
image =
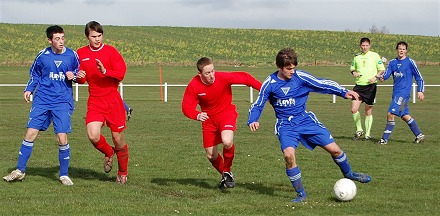
[[[210,179],[196,179],[196,178],[186,178],[186,179],[173,179],[173,178],[154,178],[151,180],[151,183],[161,185],[161,186],[168,186],[172,184],[180,184],[180,185],[189,185],[189,186],[196,186],[200,188],[210,189],[217,188],[217,185],[213,187],[211,184],[208,183],[208,181],[212,181]],[[244,188],[250,191],[255,191],[260,194],[265,195],[274,195],[274,189],[265,187],[260,183],[240,183],[235,185],[237,188]],[[225,191],[225,190],[222,190]]]

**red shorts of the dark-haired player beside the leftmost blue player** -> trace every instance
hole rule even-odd
[[[96,121],[103,122],[113,132],[121,132],[127,128],[124,102],[119,92],[103,97],[89,97],[86,124]]]

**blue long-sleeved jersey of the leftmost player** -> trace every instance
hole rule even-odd
[[[65,48],[56,54],[48,47],[40,51],[30,68],[25,91],[33,92],[33,107],[48,110],[73,110],[72,81],[66,72],[78,73],[79,59],[75,51]],[[35,92],[34,92],[35,91]]]

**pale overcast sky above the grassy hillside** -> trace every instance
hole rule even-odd
[[[0,22],[440,35],[440,0],[0,0]]]

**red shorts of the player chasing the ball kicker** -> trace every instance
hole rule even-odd
[[[235,107],[230,110],[209,116],[202,122],[203,147],[208,148],[222,143],[221,132],[224,130],[235,131],[237,128],[238,113]]]

